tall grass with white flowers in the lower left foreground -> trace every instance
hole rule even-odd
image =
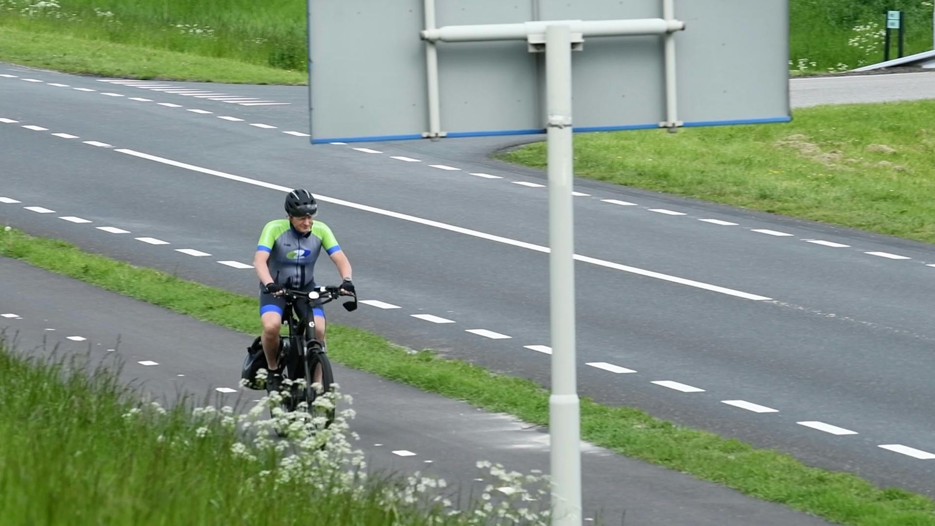
[[[251,443],[231,410],[194,416],[185,403],[166,412],[140,395],[112,369],[90,369],[86,356],[26,359],[0,342],[0,522],[473,523],[446,517],[418,490],[407,502],[398,475],[348,474],[339,454],[305,452],[295,441],[285,451]],[[304,470],[287,467],[309,455],[317,462]]]

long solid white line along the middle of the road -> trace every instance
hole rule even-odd
[[[184,168],[184,169],[187,169],[187,170],[191,170],[191,171],[195,171],[195,172],[199,172],[199,173],[204,173],[204,174],[207,174],[207,175],[212,175],[212,176],[215,176],[215,177],[221,177],[221,178],[223,178],[223,179],[228,179],[228,180],[231,180],[231,181],[237,181],[237,182],[239,182],[239,183],[253,184],[253,185],[255,185],[255,186],[261,186],[261,187],[263,187],[263,188],[269,188],[269,189],[271,189],[271,190],[279,190],[279,191],[281,191],[281,192],[292,192],[292,190],[293,190],[292,188],[290,188],[290,187],[288,187],[288,186],[282,186],[281,184],[266,183],[266,182],[264,182],[264,181],[259,181],[259,180],[256,180],[256,179],[251,179],[251,178],[249,178],[249,177],[243,177],[243,176],[239,176],[239,175],[234,175],[234,174],[230,174],[230,173],[225,173],[225,172],[219,171],[219,170],[214,170],[214,169],[210,169],[210,168],[196,167],[196,166],[194,166],[194,165],[190,165],[190,164],[187,164],[187,163],[182,163],[182,162],[180,162],[180,161],[173,161],[173,160],[171,160],[171,159],[166,159],[165,157],[159,157],[159,156],[156,156],[156,155],[151,155],[151,154],[149,154],[149,153],[136,152],[136,151],[134,151],[134,150],[128,150],[128,149],[125,149],[125,148],[121,148],[121,149],[115,150],[115,152],[125,153],[125,154],[127,154],[127,155],[133,155],[133,156],[139,157],[139,158],[141,158],[141,159],[148,159],[148,160],[151,160],[151,161],[154,161],[154,162],[157,162],[157,163],[162,163],[162,164],[165,164],[165,165],[168,165],[168,166],[173,166],[173,167],[177,167],[177,168]],[[478,230],[472,230],[472,229],[470,229],[470,228],[465,228],[465,227],[463,227],[463,226],[454,226],[454,225],[449,225],[449,224],[447,224],[447,223],[442,223],[442,222],[440,222],[440,221],[433,221],[433,220],[430,220],[430,219],[423,219],[423,218],[421,218],[421,217],[416,217],[416,216],[414,216],[414,215],[409,215],[409,214],[406,214],[406,213],[392,212],[392,211],[384,210],[384,209],[381,209],[381,208],[372,207],[372,206],[369,206],[369,205],[364,205],[364,204],[360,204],[360,203],[355,203],[355,202],[347,201],[347,200],[344,200],[344,199],[338,199],[338,198],[336,198],[336,197],[327,197],[327,196],[322,196],[322,195],[317,195],[317,194],[313,194],[313,196],[314,196],[316,199],[319,199],[319,200],[321,200],[321,201],[328,202],[328,203],[333,203],[333,204],[336,204],[336,205],[338,205],[338,206],[345,206],[345,207],[348,207],[348,208],[352,208],[352,209],[360,210],[360,211],[364,211],[364,212],[378,213],[378,214],[380,214],[380,215],[385,215],[385,216],[387,216],[387,217],[394,217],[394,218],[396,218],[396,219],[401,219],[401,220],[403,220],[403,221],[410,221],[410,222],[412,222],[412,223],[417,223],[417,224],[424,225],[424,226],[433,226],[433,227],[440,228],[440,229],[444,229],[444,230],[448,230],[448,231],[451,231],[451,232],[457,232],[457,233],[460,233],[460,234],[465,234],[465,235],[468,235],[468,236],[472,236],[472,237],[476,237],[476,238],[481,238],[481,239],[487,240],[487,241],[496,241],[496,242],[500,242],[500,243],[503,243],[503,244],[508,244],[508,245],[511,245],[511,246],[521,247],[521,248],[525,248],[525,249],[528,249],[528,250],[534,250],[534,251],[536,251],[536,252],[541,252],[541,253],[545,253],[545,254],[548,254],[548,253],[549,253],[549,247],[547,247],[547,246],[542,246],[542,245],[538,245],[538,244],[535,244],[535,243],[529,243],[529,242],[525,242],[525,241],[517,241],[517,240],[513,240],[513,239],[511,239],[511,238],[506,238],[506,237],[503,237],[503,236],[496,236],[496,235],[487,234],[487,233],[485,233],[485,232],[481,232],[481,231],[478,231]],[[740,290],[734,290],[734,289],[731,289],[731,288],[726,288],[726,287],[718,286],[718,285],[710,285],[710,284],[698,282],[698,281],[695,281],[695,280],[689,280],[689,279],[685,279],[685,278],[680,278],[680,277],[678,277],[678,276],[671,276],[671,275],[669,275],[669,274],[664,274],[664,273],[662,273],[662,272],[655,272],[655,271],[653,271],[653,270],[643,270],[643,269],[639,269],[639,268],[637,268],[637,267],[630,267],[630,266],[627,266],[627,265],[621,265],[620,263],[614,263],[614,262],[612,262],[612,261],[607,261],[607,260],[604,260],[604,259],[598,259],[598,258],[596,258],[596,257],[580,256],[580,255],[577,255],[577,254],[576,254],[576,255],[574,256],[574,258],[575,258],[576,260],[578,260],[578,261],[583,261],[583,262],[585,262],[585,263],[590,263],[590,264],[592,264],[592,265],[597,265],[597,266],[605,267],[605,268],[608,268],[608,269],[623,270],[623,271],[625,271],[625,272],[630,272],[630,273],[638,274],[638,275],[645,276],[645,277],[650,277],[650,278],[654,278],[654,279],[658,279],[658,280],[662,280],[662,281],[667,281],[667,282],[669,282],[669,283],[674,283],[674,284],[678,284],[678,285],[692,286],[692,287],[695,287],[695,288],[700,288],[700,289],[702,289],[702,290],[708,290],[708,291],[711,291],[711,292],[717,292],[717,293],[720,293],[720,294],[725,294],[726,296],[733,296],[733,297],[735,297],[735,298],[741,298],[741,299],[744,299],[744,300],[756,300],[756,301],[771,300],[771,298],[766,297],[766,296],[759,296],[759,295],[756,295],[756,294],[751,294],[751,293],[748,293],[748,292],[742,292],[742,291],[740,291]]]

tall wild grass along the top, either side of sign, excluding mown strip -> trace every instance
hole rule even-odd
[[[929,0],[791,0],[790,68],[883,60],[886,9],[905,12],[907,54],[931,49]],[[0,0],[0,24],[10,27],[295,71],[308,66],[305,16],[306,0]]]

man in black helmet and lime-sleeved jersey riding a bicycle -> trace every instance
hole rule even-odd
[[[341,275],[340,291],[353,293],[351,263],[341,250],[331,228],[315,221],[318,203],[308,190],[298,188],[286,196],[286,219],[274,219],[263,228],[253,256],[253,267],[260,278],[260,320],[263,322],[263,352],[268,373],[266,390],[279,390],[282,366],[277,363],[280,345],[282,310],[285,299],[283,288],[309,291],[315,287],[313,271],[315,261],[324,248]],[[308,304],[295,302],[299,319],[307,314]],[[315,338],[324,344],[324,309],[317,303],[312,307],[315,320]],[[316,378],[315,381],[320,381]]]

